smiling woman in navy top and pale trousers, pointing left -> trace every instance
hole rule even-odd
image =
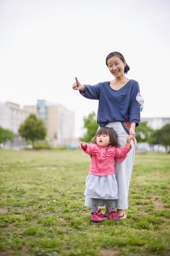
[[[119,218],[125,219],[125,210],[128,208],[129,183],[134,165],[135,127],[140,123],[140,104],[136,99],[140,89],[137,81],[128,79],[124,75],[130,68],[120,52],[111,52],[107,55],[106,65],[114,76],[114,80],[92,86],[82,85],[76,78],[72,88],[79,90],[85,98],[99,101],[97,122],[100,127],[114,128],[121,147],[126,143],[127,135],[131,135],[133,138],[132,150],[126,160],[121,164],[117,162],[115,165],[118,182],[118,199],[115,202],[115,208],[117,208]],[[90,205],[89,200],[86,197],[86,205]],[[98,206],[101,205],[103,205],[102,201]]]

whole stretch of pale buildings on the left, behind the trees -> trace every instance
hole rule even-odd
[[[52,146],[72,146],[75,139],[75,113],[61,104],[38,100],[36,105],[24,105],[13,102],[0,102],[0,126],[12,130],[18,137],[18,129],[25,118],[35,113],[47,127],[47,137]]]

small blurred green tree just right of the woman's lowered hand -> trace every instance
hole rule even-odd
[[[147,122],[141,122],[135,129],[137,142],[150,142],[153,129]]]

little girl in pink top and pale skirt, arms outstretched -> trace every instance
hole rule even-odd
[[[80,142],[80,148],[91,157],[84,195],[90,197],[92,222],[101,222],[107,219],[101,213],[101,209],[98,209],[100,199],[104,199],[109,211],[108,218],[118,221],[117,212],[114,209],[114,201],[118,199],[115,160],[119,163],[123,162],[132,148],[131,140],[132,136],[127,137],[124,147],[118,148],[118,137],[115,130],[112,127],[101,127],[92,139],[93,145]]]

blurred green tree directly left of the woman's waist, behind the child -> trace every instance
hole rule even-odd
[[[97,116],[95,112],[90,113],[88,116],[84,116],[83,121],[83,128],[86,129],[86,133],[82,138],[80,138],[80,140],[90,142],[98,129]]]

